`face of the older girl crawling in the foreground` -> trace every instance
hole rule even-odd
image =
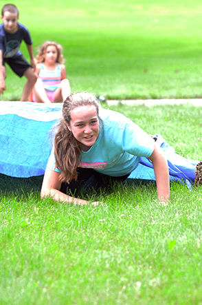
[[[99,136],[99,119],[96,106],[76,107],[71,111],[71,121],[68,129],[74,138],[81,143],[83,151],[88,151]]]

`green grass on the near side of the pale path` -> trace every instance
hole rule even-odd
[[[202,107],[117,105],[177,153],[201,159]],[[202,304],[202,189],[113,185],[77,207],[41,200],[42,176],[0,175],[0,304]]]

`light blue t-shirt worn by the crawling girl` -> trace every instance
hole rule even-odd
[[[148,158],[155,148],[154,140],[144,130],[119,112],[99,109],[103,124],[96,143],[89,151],[81,151],[81,167],[91,168],[109,176],[124,176],[133,171],[139,157]],[[54,148],[47,167],[55,167]]]

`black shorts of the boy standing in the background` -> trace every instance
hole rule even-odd
[[[3,65],[5,65],[5,63],[10,65],[13,72],[20,77],[23,76],[28,67],[31,67],[26,59],[24,59],[23,55],[18,56],[16,59],[12,59],[12,57],[3,59]]]

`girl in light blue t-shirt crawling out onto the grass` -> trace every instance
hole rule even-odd
[[[151,136],[126,116],[102,109],[96,96],[78,92],[67,97],[49,157],[41,197],[87,204],[73,198],[81,187],[124,181],[144,156],[153,162],[157,196],[168,201],[168,163]],[[97,202],[93,202],[97,204]]]

